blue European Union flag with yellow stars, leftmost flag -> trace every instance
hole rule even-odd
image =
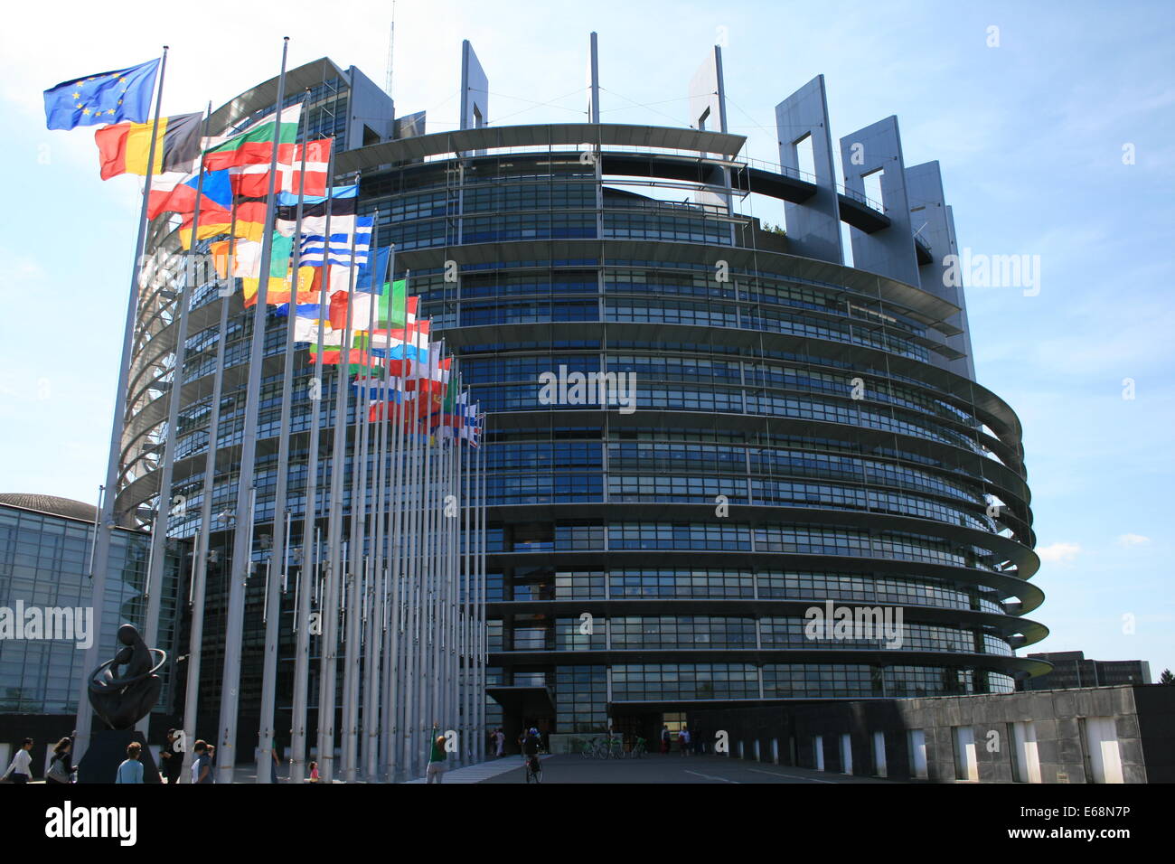
[[[62,81],[45,91],[46,123],[51,129],[120,123],[123,120],[145,123],[150,116],[156,72],[159,59],[129,69]]]

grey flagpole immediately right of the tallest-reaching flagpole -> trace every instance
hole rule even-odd
[[[306,109],[307,101],[310,95],[310,88],[308,87],[302,95],[302,108]],[[282,106],[277,107],[278,116],[281,115]],[[297,301],[298,301],[298,259],[300,259],[300,242],[302,239],[302,202],[306,197],[306,152],[310,143],[310,118],[309,114],[306,116],[306,128],[303,129],[302,136],[302,163],[298,173],[298,193],[297,193],[297,210],[295,215],[295,228],[294,228],[294,250],[293,250],[293,267],[291,267],[291,282],[290,282],[290,300],[287,306],[289,310],[289,321],[286,326],[286,351],[282,356],[282,407],[281,407],[281,426],[277,433],[277,483],[274,491],[274,542],[269,550],[269,561],[282,562],[281,583],[282,585],[287,582],[287,565],[286,565],[286,552],[290,545],[290,538],[288,536],[288,523],[287,518],[289,515],[289,502],[287,501],[287,490],[289,488],[289,458],[290,458],[290,409],[293,401],[294,390],[294,329],[297,322]],[[280,136],[275,135],[274,153],[277,153],[277,139]],[[297,136],[295,136],[297,140]],[[293,166],[291,166],[293,169]],[[271,176],[269,179],[270,189],[274,188],[276,178]],[[268,283],[268,279],[267,279]],[[267,284],[268,287],[268,284]],[[260,290],[260,283],[258,283]],[[268,299],[268,297],[267,297]],[[284,589],[278,589],[278,580],[270,578],[267,585],[264,603],[264,618],[266,618],[266,649],[262,659],[262,672],[261,672],[261,728],[257,731],[257,783],[268,784],[273,777],[273,769],[270,768],[274,762],[274,736],[276,725],[276,702],[277,702],[277,647],[278,647],[278,635],[281,630],[281,597],[284,594]]]

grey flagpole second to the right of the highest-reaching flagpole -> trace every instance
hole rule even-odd
[[[309,123],[309,121],[308,121]],[[330,155],[327,158],[327,201],[325,201],[325,237],[330,239],[330,203],[334,200],[335,183],[335,141],[330,141]],[[303,181],[306,178],[302,178]],[[301,235],[302,221],[298,219],[297,233]],[[294,254],[301,259],[301,243],[295,242]],[[309,574],[307,587],[298,595],[297,636],[294,648],[294,701],[290,717],[290,783],[301,783],[306,777],[306,723],[307,699],[310,689],[310,598],[318,583],[320,562],[314,533],[318,518],[318,441],[322,415],[322,360],[323,330],[321,323],[323,309],[327,308],[327,290],[330,282],[330,268],[323,257],[322,276],[318,283],[318,340],[316,362],[314,366],[314,383],[310,390],[310,443],[307,446],[306,507],[302,516],[302,575]],[[297,304],[290,306],[291,316],[297,315]],[[293,322],[291,322],[293,323]],[[314,552],[311,554],[311,550]],[[307,567],[307,563],[310,567]],[[321,607],[320,607],[321,615]]]

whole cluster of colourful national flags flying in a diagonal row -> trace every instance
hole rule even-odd
[[[311,362],[347,364],[370,422],[402,422],[407,431],[476,447],[478,406],[452,373],[444,342],[431,341],[431,321],[417,316],[419,299],[408,294],[407,280],[377,275],[387,269],[388,250],[372,250],[375,220],[357,214],[358,187],[329,186],[331,140],[298,143],[302,105],[223,135],[206,134],[200,113],[150,122],[157,65],[46,91],[48,128],[105,123],[94,133],[101,178],[149,178],[147,217],[179,215],[184,249],[212,241],[217,275],[241,280],[246,306],[257,302],[268,229],[266,303],[294,316],[295,342],[309,343]],[[275,150],[278,194],[270,220],[264,199]]]

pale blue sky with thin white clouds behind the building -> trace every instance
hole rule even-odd
[[[24,4],[0,33],[0,491],[93,501],[105,473],[137,216],[92,132],[48,132],[41,91],[172,47],[163,112],[221,105],[322,55],[384,80],[390,2]],[[1039,255],[1040,293],[971,289],[980,383],[1025,426],[1052,635],[1032,650],[1175,667],[1175,5],[538,4],[400,0],[397,112],[457,121],[461,40],[490,122],[584,119],[599,33],[602,119],[685,125],[723,41],[731,132],[778,161],[774,105],[824,73],[837,139],[897,114],[907,165],[939,160],[960,246]],[[999,45],[988,45],[996,27]],[[1123,163],[1133,145],[1134,163]],[[774,210],[772,209],[774,208]],[[778,202],[754,215],[783,222]],[[1123,380],[1134,398],[1123,398]],[[1133,625],[1132,625],[1133,624]]]

